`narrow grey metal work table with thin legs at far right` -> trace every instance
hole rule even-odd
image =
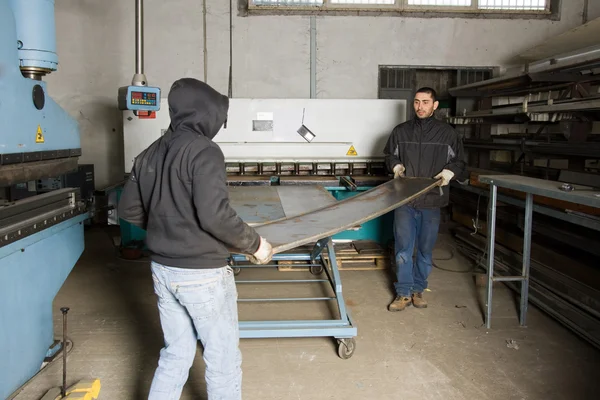
[[[488,205],[488,234],[487,234],[487,306],[486,327],[491,327],[492,288],[494,282],[521,282],[520,317],[521,326],[526,325],[527,304],[529,296],[529,264],[531,253],[531,227],[533,218],[533,196],[539,195],[575,204],[600,208],[600,192],[586,190],[575,185],[575,190],[567,192],[560,189],[561,182],[524,177],[519,175],[485,175],[479,181],[490,185]],[[496,235],[496,201],[498,188],[517,190],[525,193],[525,221],[523,228],[523,269],[520,276],[494,276],[494,245]]]

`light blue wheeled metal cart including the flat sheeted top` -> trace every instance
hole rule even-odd
[[[308,211],[335,203],[336,199],[322,186],[238,186],[229,187],[231,206],[249,225],[281,218],[296,216]],[[321,257],[321,251],[327,249],[328,260]],[[352,356],[355,349],[354,337],[357,334],[349,311],[346,309],[342,294],[342,283],[331,238],[317,243],[315,248],[306,251],[294,250],[277,254],[273,264],[252,265],[245,263],[245,257],[233,255],[232,267],[236,276],[243,269],[277,268],[278,261],[306,261],[303,267],[310,266],[315,279],[271,279],[250,280],[236,277],[236,284],[329,284],[334,296],[297,297],[297,298],[240,298],[239,302],[315,302],[333,301],[339,318],[328,320],[280,320],[280,321],[240,321],[240,338],[277,338],[277,337],[333,337],[338,341],[338,355],[342,359]],[[325,274],[325,277],[319,277]]]

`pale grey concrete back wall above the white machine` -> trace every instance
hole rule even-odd
[[[309,97],[309,18],[237,17],[233,96]],[[319,17],[320,98],[376,98],[378,65],[498,66],[582,20],[584,0],[564,0],[560,21]],[[592,1],[591,3],[594,3]],[[208,83],[227,93],[229,1],[207,0]],[[590,7],[589,18],[599,10]],[[134,72],[134,1],[56,2],[59,70],[52,96],[80,123],[83,156],[98,188],[123,177],[119,86]],[[145,1],[145,72],[166,96],[182,76],[203,79],[201,0]]]

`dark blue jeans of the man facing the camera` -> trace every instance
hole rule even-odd
[[[410,297],[427,289],[439,227],[439,208],[402,206],[394,211],[397,279],[394,287],[398,296]],[[415,244],[417,260],[413,263]]]

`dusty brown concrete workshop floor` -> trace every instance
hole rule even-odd
[[[437,257],[447,256],[448,240],[440,239]],[[74,348],[68,381],[100,378],[100,399],[144,399],[162,345],[148,266],[116,258],[104,230],[88,231],[86,241],[85,253],[54,303],[58,337],[58,309],[71,307]],[[460,256],[438,264],[468,268]],[[259,272],[244,270],[240,278],[253,273]],[[392,298],[387,272],[344,271],[342,279],[358,326],[354,356],[338,358],[328,338],[242,340],[244,399],[598,398],[600,352],[535,307],[529,311],[529,327],[519,328],[512,292],[504,286],[494,292],[493,328],[486,330],[478,305],[481,290],[471,274],[434,269],[426,294],[429,308],[399,313],[386,309]],[[241,288],[240,297],[259,292]],[[322,311],[310,304],[244,305],[240,319],[313,318]],[[184,399],[206,398],[203,367],[198,351]],[[45,369],[16,399],[39,399],[60,385],[61,368],[58,362]]]

